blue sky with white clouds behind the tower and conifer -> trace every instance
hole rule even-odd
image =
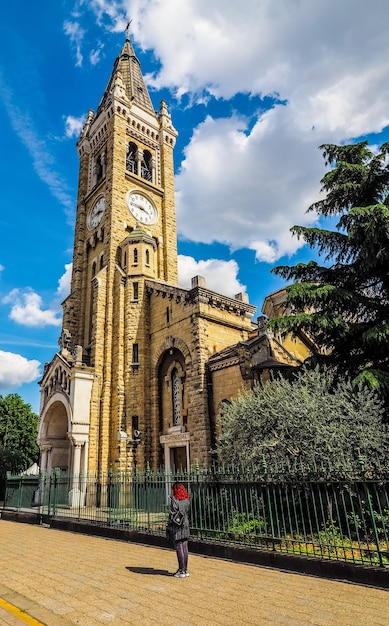
[[[0,24],[0,394],[39,410],[69,290],[75,142],[131,39],[175,152],[179,276],[260,315],[274,265],[312,252],[323,143],[389,140],[386,0],[40,0]]]

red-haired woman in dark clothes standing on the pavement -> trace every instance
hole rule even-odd
[[[174,483],[172,490],[166,535],[177,553],[178,570],[173,576],[187,578],[190,496],[182,483]]]

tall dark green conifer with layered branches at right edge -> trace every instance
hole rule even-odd
[[[290,315],[272,320],[282,333],[304,332],[325,362],[356,382],[389,391],[389,143],[372,152],[367,142],[321,146],[327,165],[323,200],[308,211],[335,217],[335,230],[294,226],[317,248],[315,261],[279,266]]]

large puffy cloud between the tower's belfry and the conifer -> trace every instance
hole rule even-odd
[[[290,117],[288,107],[277,106],[248,135],[239,117],[198,126],[176,183],[184,238],[250,248],[269,263],[296,250],[290,226],[315,220],[305,209],[318,197],[321,138],[309,131],[298,141]]]

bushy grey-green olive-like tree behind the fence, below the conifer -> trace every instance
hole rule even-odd
[[[385,458],[388,431],[377,391],[336,380],[330,370],[296,370],[256,386],[223,408],[217,453],[222,463],[256,467],[302,460],[306,467],[371,464]]]

